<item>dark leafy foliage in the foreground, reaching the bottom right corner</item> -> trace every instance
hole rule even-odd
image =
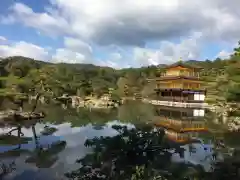
[[[81,180],[224,180],[239,179],[240,161],[236,156],[223,162],[214,162],[213,171],[206,172],[201,165],[174,163],[171,157],[184,149],[170,143],[164,131],[148,125],[136,129],[113,126],[119,132],[114,137],[88,139],[86,147],[93,151],[77,160],[80,168],[66,173],[69,179]],[[191,154],[196,149],[189,145]]]

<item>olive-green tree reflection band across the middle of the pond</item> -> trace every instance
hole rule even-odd
[[[103,125],[108,121],[121,120],[123,122],[147,121],[153,117],[154,107],[141,102],[128,102],[118,109],[68,108],[64,110],[57,105],[41,105],[37,109],[47,114],[45,122],[62,124],[69,122],[73,127],[91,124]]]

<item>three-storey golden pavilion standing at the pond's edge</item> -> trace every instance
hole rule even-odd
[[[206,90],[200,80],[199,67],[179,61],[167,66],[156,81],[156,93],[161,101],[203,102]],[[150,80],[151,81],[151,80]]]

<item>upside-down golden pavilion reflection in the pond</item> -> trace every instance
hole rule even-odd
[[[185,142],[207,131],[204,113],[203,109],[156,106],[153,123],[165,128],[170,139]]]

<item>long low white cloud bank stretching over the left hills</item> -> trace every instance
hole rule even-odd
[[[25,56],[53,63],[92,63],[100,66],[120,67],[119,64],[114,62],[115,60],[119,60],[120,54],[118,56],[114,54],[114,56],[111,56],[111,60],[97,60],[92,56],[91,46],[73,38],[65,38],[65,47],[58,49],[52,49],[51,47],[43,48],[25,41],[9,43],[11,41],[8,42],[2,36],[0,37],[0,42],[1,40],[6,43],[0,44],[0,57]]]

